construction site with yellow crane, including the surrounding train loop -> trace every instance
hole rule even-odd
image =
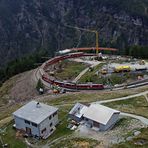
[[[118,49],[115,48],[99,47],[98,31],[67,27],[95,33],[96,47],[61,50],[55,57],[43,63],[36,75],[48,88],[53,88],[54,92],[65,92],[125,89],[147,85],[146,61],[118,56]]]

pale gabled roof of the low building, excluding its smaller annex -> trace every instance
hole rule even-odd
[[[106,125],[114,113],[120,112],[100,104],[91,104],[83,116]]]

